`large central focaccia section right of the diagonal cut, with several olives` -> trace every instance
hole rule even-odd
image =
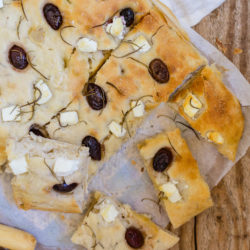
[[[99,155],[92,157],[94,160],[107,159],[134,135],[149,111],[166,101],[205,61],[168,19],[152,8],[68,107],[79,114],[81,122],[73,129],[54,119],[48,132],[57,140],[89,145]]]

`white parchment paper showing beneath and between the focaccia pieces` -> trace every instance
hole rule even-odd
[[[241,104],[243,106],[250,105],[249,83],[236,67],[195,31],[188,27],[186,27],[186,30],[194,45],[211,63],[216,63],[228,70],[224,74],[224,82],[239,98]],[[243,108],[245,131],[240,142],[237,160],[246,153],[250,145],[249,110],[247,107]],[[138,130],[136,137],[123,145],[122,149],[103,166],[100,173],[90,183],[89,190],[102,190],[107,194],[112,194],[120,201],[130,204],[137,211],[150,214],[157,224],[165,227],[168,224],[166,214],[160,214],[158,207],[153,202],[141,202],[143,198],[156,200],[156,192],[145,171],[141,171],[143,162],[136,149],[136,142],[162,130],[171,130],[175,127],[175,124],[170,119],[159,118],[159,114],[173,115],[173,111],[167,104],[159,106],[146,119]],[[220,155],[212,144],[204,140],[197,140],[190,130],[185,130],[181,125],[180,129],[183,131],[182,135],[187,140],[194,157],[198,161],[201,173],[210,187],[214,187],[235,163]],[[82,215],[18,210],[12,198],[10,178],[8,175],[0,176],[1,223],[32,233],[40,243],[37,246],[39,250],[82,249],[70,243],[70,237],[81,223]]]

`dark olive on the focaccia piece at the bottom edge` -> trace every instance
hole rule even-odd
[[[129,227],[125,233],[125,239],[132,248],[140,248],[144,245],[144,237],[141,231],[135,227]]]

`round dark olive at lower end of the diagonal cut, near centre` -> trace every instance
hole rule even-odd
[[[86,96],[89,106],[94,110],[101,110],[107,104],[107,97],[103,88],[94,83],[88,83]]]

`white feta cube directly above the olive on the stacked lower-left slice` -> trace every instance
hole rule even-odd
[[[56,159],[53,171],[57,176],[68,176],[78,170],[79,164],[79,160],[69,160],[59,157]]]

